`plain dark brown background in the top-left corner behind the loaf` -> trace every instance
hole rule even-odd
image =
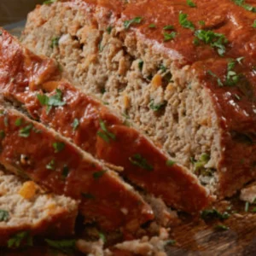
[[[45,0],[0,0],[0,26],[25,20],[26,15]]]

